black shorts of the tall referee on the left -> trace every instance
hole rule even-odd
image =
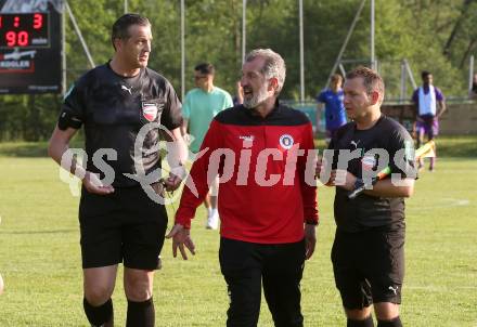
[[[111,195],[81,192],[79,204],[82,267],[124,262],[155,270],[164,245],[167,212],[141,186],[115,188]]]

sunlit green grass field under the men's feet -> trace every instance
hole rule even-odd
[[[407,201],[405,326],[477,327],[477,138],[441,138],[434,173],[423,171]],[[82,313],[78,198],[44,156],[46,144],[0,144],[0,326],[88,326]],[[330,250],[334,191],[319,188],[319,245],[307,262],[305,326],[345,326]],[[176,208],[168,208],[171,217]],[[215,231],[201,208],[192,235],[197,254],[173,259],[170,241],[156,274],[156,326],[224,326],[228,297]],[[170,225],[170,224],[169,224]],[[363,253],[365,254],[365,253]],[[125,299],[118,277],[117,326]],[[259,326],[273,326],[265,301]]]

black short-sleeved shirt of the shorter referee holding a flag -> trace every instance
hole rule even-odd
[[[334,149],[333,169],[337,168],[338,151],[359,149],[359,158],[350,160],[346,169],[358,178],[363,178],[363,169],[372,171],[376,168],[378,157],[371,156],[370,149],[385,149],[389,155],[391,173],[399,173],[401,178],[416,176],[413,158],[414,143],[409,132],[396,120],[382,116],[379,120],[368,130],[358,130],[354,122],[341,127],[330,143]],[[402,151],[404,149],[404,151]],[[402,165],[395,164],[398,151]],[[368,154],[366,154],[368,153]],[[377,171],[375,172],[375,174]],[[390,178],[390,175],[388,175]],[[349,200],[348,191],[336,187],[334,213],[338,230],[344,232],[360,232],[371,227],[396,228],[404,225],[404,199],[401,197],[377,197],[361,194]]]

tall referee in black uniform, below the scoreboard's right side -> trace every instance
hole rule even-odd
[[[172,139],[168,141],[175,141],[170,143],[178,149],[169,156],[171,173],[160,183],[158,178],[150,182],[158,194],[160,186],[173,191],[181,182],[188,152],[176,92],[168,80],[146,67],[151,40],[147,18],[137,14],[118,18],[112,30],[113,58],[75,82],[50,140],[49,154],[61,164],[72,136],[85,126],[86,169],[76,161],[62,166],[82,178],[83,306],[92,326],[113,326],[111,296],[120,262],[128,300],[126,326],[154,326],[153,276],[167,214],[164,205],[144,192],[144,183],[127,175],[144,176],[160,169],[156,148],[164,134],[159,131],[167,129]]]

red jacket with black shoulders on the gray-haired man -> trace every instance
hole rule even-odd
[[[218,172],[222,237],[259,244],[302,239],[304,222],[318,223],[313,148],[308,117],[278,102],[265,118],[242,105],[219,113],[188,181],[198,196],[184,187],[176,222],[191,226]]]

